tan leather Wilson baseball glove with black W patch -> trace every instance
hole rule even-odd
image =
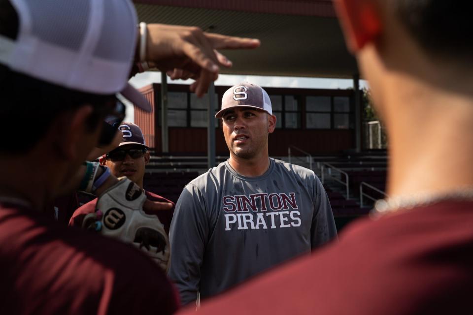
[[[126,177],[99,197],[96,211],[84,218],[85,229],[131,243],[146,252],[164,271],[169,267],[169,239],[155,215],[143,211],[146,195]]]

